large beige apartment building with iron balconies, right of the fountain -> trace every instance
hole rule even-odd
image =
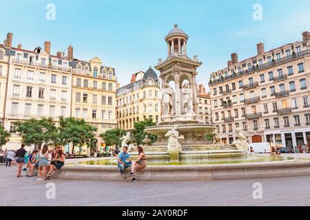
[[[236,128],[249,142],[298,146],[310,142],[310,33],[302,41],[238,61],[211,74],[212,117],[222,142],[236,140]],[[310,143],[309,143],[310,144]]]

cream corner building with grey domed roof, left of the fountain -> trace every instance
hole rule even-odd
[[[117,127],[125,131],[134,129],[134,122],[161,117],[161,94],[158,76],[149,67],[147,72],[132,74],[131,83],[116,91]]]

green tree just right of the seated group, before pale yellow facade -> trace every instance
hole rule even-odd
[[[72,143],[72,154],[74,146],[81,148],[86,144],[87,147],[96,140],[96,127],[88,124],[79,118],[59,118],[59,142],[63,145]]]

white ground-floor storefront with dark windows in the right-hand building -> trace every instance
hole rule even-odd
[[[271,146],[276,147],[292,147],[302,146],[302,144],[310,144],[310,127],[302,129],[280,129],[273,131],[265,131],[265,140]]]

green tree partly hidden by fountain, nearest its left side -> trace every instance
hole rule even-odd
[[[134,142],[136,142],[138,145],[142,144],[142,140],[145,138],[145,135],[148,135],[149,139],[152,140],[152,143],[155,142],[157,140],[156,135],[144,132],[144,130],[148,126],[155,126],[155,125],[156,123],[153,122],[152,119],[147,119],[141,122],[134,122],[134,130],[132,131],[132,134],[134,136]]]

